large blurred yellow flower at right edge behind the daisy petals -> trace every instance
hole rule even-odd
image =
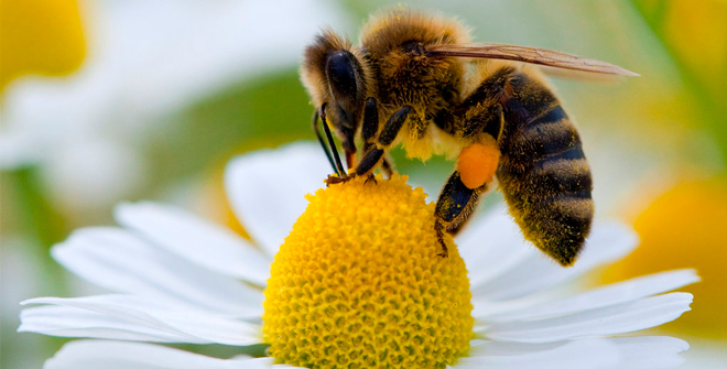
[[[634,221],[641,245],[605,273],[606,283],[675,268],[695,268],[702,282],[693,311],[664,328],[727,338],[727,182],[684,183],[654,200]]]

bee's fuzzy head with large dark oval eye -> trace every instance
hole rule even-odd
[[[356,151],[354,137],[368,94],[367,75],[361,52],[330,30],[305,48],[301,66],[303,85],[316,109],[326,104],[327,119],[349,152]]]

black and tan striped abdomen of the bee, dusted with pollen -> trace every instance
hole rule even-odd
[[[504,127],[497,176],[527,239],[569,265],[590,229],[590,169],[573,122],[538,80],[516,74],[501,102]]]

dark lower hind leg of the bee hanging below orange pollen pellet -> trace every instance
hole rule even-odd
[[[487,184],[478,188],[469,188],[463,182],[459,171],[455,171],[442,188],[434,209],[434,230],[442,246],[441,257],[446,258],[448,250],[444,241],[444,231],[455,232],[469,218],[479,200],[479,194],[485,192]]]

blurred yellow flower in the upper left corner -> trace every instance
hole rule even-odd
[[[74,0],[0,0],[0,93],[25,74],[66,75],[86,43]]]

